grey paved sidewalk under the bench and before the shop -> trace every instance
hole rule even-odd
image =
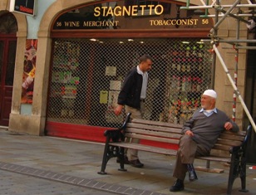
[[[199,180],[190,183],[186,178],[184,191],[170,193],[170,185],[175,182],[172,177],[174,157],[140,152],[140,161],[145,167],[126,165],[127,172],[118,171],[119,164],[112,158],[106,166],[108,174],[100,175],[97,172],[101,170],[103,149],[104,144],[15,134],[0,129],[0,171],[98,189],[108,194],[226,194],[229,168],[222,163],[212,162],[211,166],[224,168],[224,173],[198,172]],[[204,166],[205,161],[196,160],[194,165]],[[238,178],[232,194],[256,194],[256,170],[248,166],[246,179],[249,193],[239,192]]]

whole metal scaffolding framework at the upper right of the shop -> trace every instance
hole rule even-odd
[[[215,63],[216,63],[216,57],[218,57],[221,65],[224,68],[225,73],[227,74],[229,81],[231,83],[231,85],[234,88],[234,102],[233,102],[233,119],[235,118],[235,106],[236,106],[236,97],[239,97],[239,100],[241,102],[241,105],[244,108],[244,111],[246,113],[246,115],[249,118],[250,123],[252,124],[254,131],[256,132],[256,126],[254,123],[254,119],[252,118],[252,116],[249,113],[249,110],[247,109],[244,100],[242,98],[242,96],[239,93],[239,90],[237,88],[237,70],[238,70],[238,57],[239,57],[239,49],[256,49],[256,46],[241,46],[239,45],[240,42],[244,42],[244,43],[255,43],[256,40],[240,40],[239,39],[239,22],[244,22],[246,24],[250,24],[249,21],[245,20],[243,17],[254,17],[254,13],[243,13],[241,12],[240,8],[241,7],[256,7],[256,4],[252,3],[251,1],[247,0],[248,4],[241,4],[241,0],[235,0],[234,3],[232,5],[220,5],[220,1],[219,0],[215,0],[212,1],[212,4],[209,5],[209,0],[206,0],[206,2],[204,2],[203,0],[200,0],[200,2],[203,4],[203,6],[190,6],[190,0],[187,0],[186,6],[185,7],[180,7],[180,9],[205,9],[205,14],[200,16],[200,17],[215,17],[215,24],[214,27],[209,31],[209,37],[210,40],[201,40],[201,41],[205,41],[205,42],[210,42],[213,45],[213,51],[214,51],[214,61],[213,61],[213,70],[215,69]],[[208,9],[215,9],[215,15],[208,15]],[[228,8],[228,10],[224,10],[224,8]],[[239,12],[237,12],[236,14],[232,13],[234,11],[234,9],[239,10]],[[221,12],[221,14],[219,14],[219,12]],[[219,17],[221,17],[219,19]],[[236,35],[236,40],[223,40],[221,38],[218,37],[218,27],[219,25],[224,22],[224,20],[226,19],[226,17],[234,17],[238,22],[238,27],[237,27],[237,35]],[[229,70],[227,68],[227,66],[224,63],[223,58],[221,57],[219,50],[217,48],[217,46],[219,45],[219,42],[225,42],[225,43],[229,43],[233,45],[233,49],[235,49],[236,53],[235,53],[235,68],[234,68],[234,80],[232,79],[232,77],[229,74]],[[231,48],[230,48],[231,49]],[[214,81],[214,78],[212,76],[212,80]],[[214,88],[213,88],[214,89]]]

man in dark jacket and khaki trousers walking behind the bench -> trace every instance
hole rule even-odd
[[[148,73],[152,68],[152,58],[149,55],[140,56],[140,64],[132,68],[122,85],[120,94],[118,95],[116,115],[121,115],[121,111],[126,106],[126,113],[131,113],[131,119],[142,119],[145,112],[145,95],[148,84]],[[133,143],[139,143],[139,139],[126,140]],[[142,168],[138,158],[138,150],[127,149],[125,163],[129,163],[135,168]]]

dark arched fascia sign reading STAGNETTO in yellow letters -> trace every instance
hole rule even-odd
[[[101,3],[66,12],[57,18],[53,29],[154,29],[209,28],[212,20],[201,18],[175,4],[150,1],[152,4]],[[171,9],[175,5],[175,9]],[[177,8],[178,7],[178,8]],[[193,12],[193,11],[192,11]]]

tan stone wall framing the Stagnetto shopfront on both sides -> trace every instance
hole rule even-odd
[[[39,0],[44,2],[44,0]],[[90,0],[57,0],[43,12],[42,19],[40,19],[40,25],[37,32],[38,48],[37,48],[37,71],[34,85],[34,96],[31,108],[31,113],[27,115],[21,114],[21,94],[22,94],[22,68],[24,60],[23,48],[25,48],[27,40],[27,18],[18,13],[14,13],[17,18],[18,32],[17,32],[17,56],[16,56],[16,69],[15,79],[13,85],[13,97],[12,97],[12,113],[10,115],[9,130],[27,134],[44,134],[44,128],[46,123],[46,110],[47,110],[47,90],[49,80],[50,69],[50,57],[51,57],[51,44],[50,38],[51,25],[57,14],[69,7],[75,7],[86,2],[92,2]],[[180,1],[186,2],[186,1]],[[198,1],[190,1],[190,3],[196,3]],[[4,0],[0,2],[0,10],[8,9],[8,1]],[[225,1],[225,3],[232,4],[233,1]],[[236,22],[233,18],[226,19],[219,27],[219,36],[227,39],[235,39],[236,37]],[[240,38],[246,39],[247,28],[245,24],[241,24]],[[228,44],[220,44],[219,51],[223,56],[224,61],[227,63],[231,76],[234,75],[234,49],[224,49],[223,47],[232,47]],[[239,79],[238,86],[242,97],[244,98],[244,83],[245,83],[245,67],[246,67],[246,52],[239,51]],[[224,72],[223,67],[217,59],[216,71],[215,71],[215,85],[214,89],[218,93],[217,106],[219,109],[224,110],[228,115],[232,116],[232,103],[233,103],[233,88],[230,85],[228,77]],[[242,127],[243,121],[243,108],[241,104],[237,104],[237,123]]]

